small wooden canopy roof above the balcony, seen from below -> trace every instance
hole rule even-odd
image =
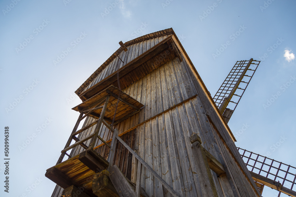
[[[102,106],[95,106],[102,102],[104,98],[107,97],[107,95],[110,95],[104,119],[111,123],[113,120],[119,92],[120,90],[118,88],[111,85],[72,109],[75,111],[85,111],[92,108],[96,108],[89,114],[89,116],[98,119],[100,113],[102,112]],[[143,106],[144,105],[138,102],[137,100],[133,99],[124,92],[121,92],[118,108],[116,111],[115,122],[123,121],[129,116],[134,115],[135,113],[139,112],[139,109]]]

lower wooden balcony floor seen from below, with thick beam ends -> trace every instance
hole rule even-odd
[[[93,175],[105,170],[109,163],[94,150],[86,150],[46,170],[45,176],[62,188],[74,185],[84,188],[89,196],[92,192]]]

